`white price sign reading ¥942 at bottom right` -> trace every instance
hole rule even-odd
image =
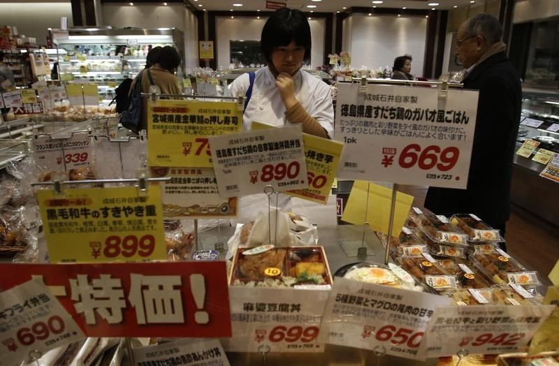
[[[468,353],[508,353],[528,343],[555,307],[439,307],[431,316],[419,355],[423,358]]]

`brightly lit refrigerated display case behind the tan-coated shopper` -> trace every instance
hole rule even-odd
[[[99,87],[103,103],[115,97],[115,88],[125,78],[135,78],[145,67],[152,47],[174,46],[182,58],[177,77],[184,75],[184,34],[175,28],[49,29],[56,45],[59,79],[89,82]]]

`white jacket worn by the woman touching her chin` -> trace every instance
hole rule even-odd
[[[268,66],[256,71],[252,96],[245,115],[242,117],[242,128],[250,131],[252,121],[273,126],[284,126],[289,123],[285,115],[285,105],[279,88],[275,86],[275,77]],[[330,87],[322,80],[315,78],[305,71],[297,71],[293,75],[295,83],[295,97],[303,108],[319,122],[332,138],[334,131],[334,108]],[[231,96],[245,96],[249,88],[249,74],[245,73],[236,78],[229,85]]]

